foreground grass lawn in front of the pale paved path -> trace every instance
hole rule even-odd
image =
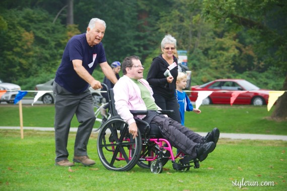
[[[220,139],[200,168],[176,171],[169,161],[161,174],[153,174],[137,165],[127,172],[107,170],[98,159],[96,138],[92,133],[88,145],[96,164],[69,168],[54,165],[53,132],[27,130],[20,139],[17,130],[0,130],[0,190],[237,190],[240,185],[248,190],[286,190],[284,141]],[[72,132],[69,160],[74,141]],[[256,182],[269,185],[250,186]]]

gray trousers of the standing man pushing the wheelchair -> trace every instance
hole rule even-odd
[[[68,134],[75,114],[80,125],[76,135],[74,155],[88,155],[87,145],[96,120],[91,91],[87,89],[83,93],[70,93],[54,82],[53,93],[55,97],[55,161],[68,158]]]

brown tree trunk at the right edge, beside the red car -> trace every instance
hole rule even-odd
[[[283,89],[287,90],[287,74],[283,83]],[[280,96],[276,102],[275,109],[271,115],[273,120],[287,120],[287,92],[285,91],[282,96]]]

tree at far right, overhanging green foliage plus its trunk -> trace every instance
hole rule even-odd
[[[287,2],[283,0],[211,0],[203,3],[204,15],[215,23],[225,23],[230,31],[245,31],[241,41],[250,43],[261,71],[274,66],[285,75],[282,89],[287,90]],[[278,99],[273,119],[287,119],[287,93]]]

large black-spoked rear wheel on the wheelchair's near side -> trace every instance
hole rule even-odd
[[[118,116],[112,117],[99,132],[97,149],[99,158],[107,169],[128,171],[140,157],[140,132],[132,139],[128,133],[128,124]]]

